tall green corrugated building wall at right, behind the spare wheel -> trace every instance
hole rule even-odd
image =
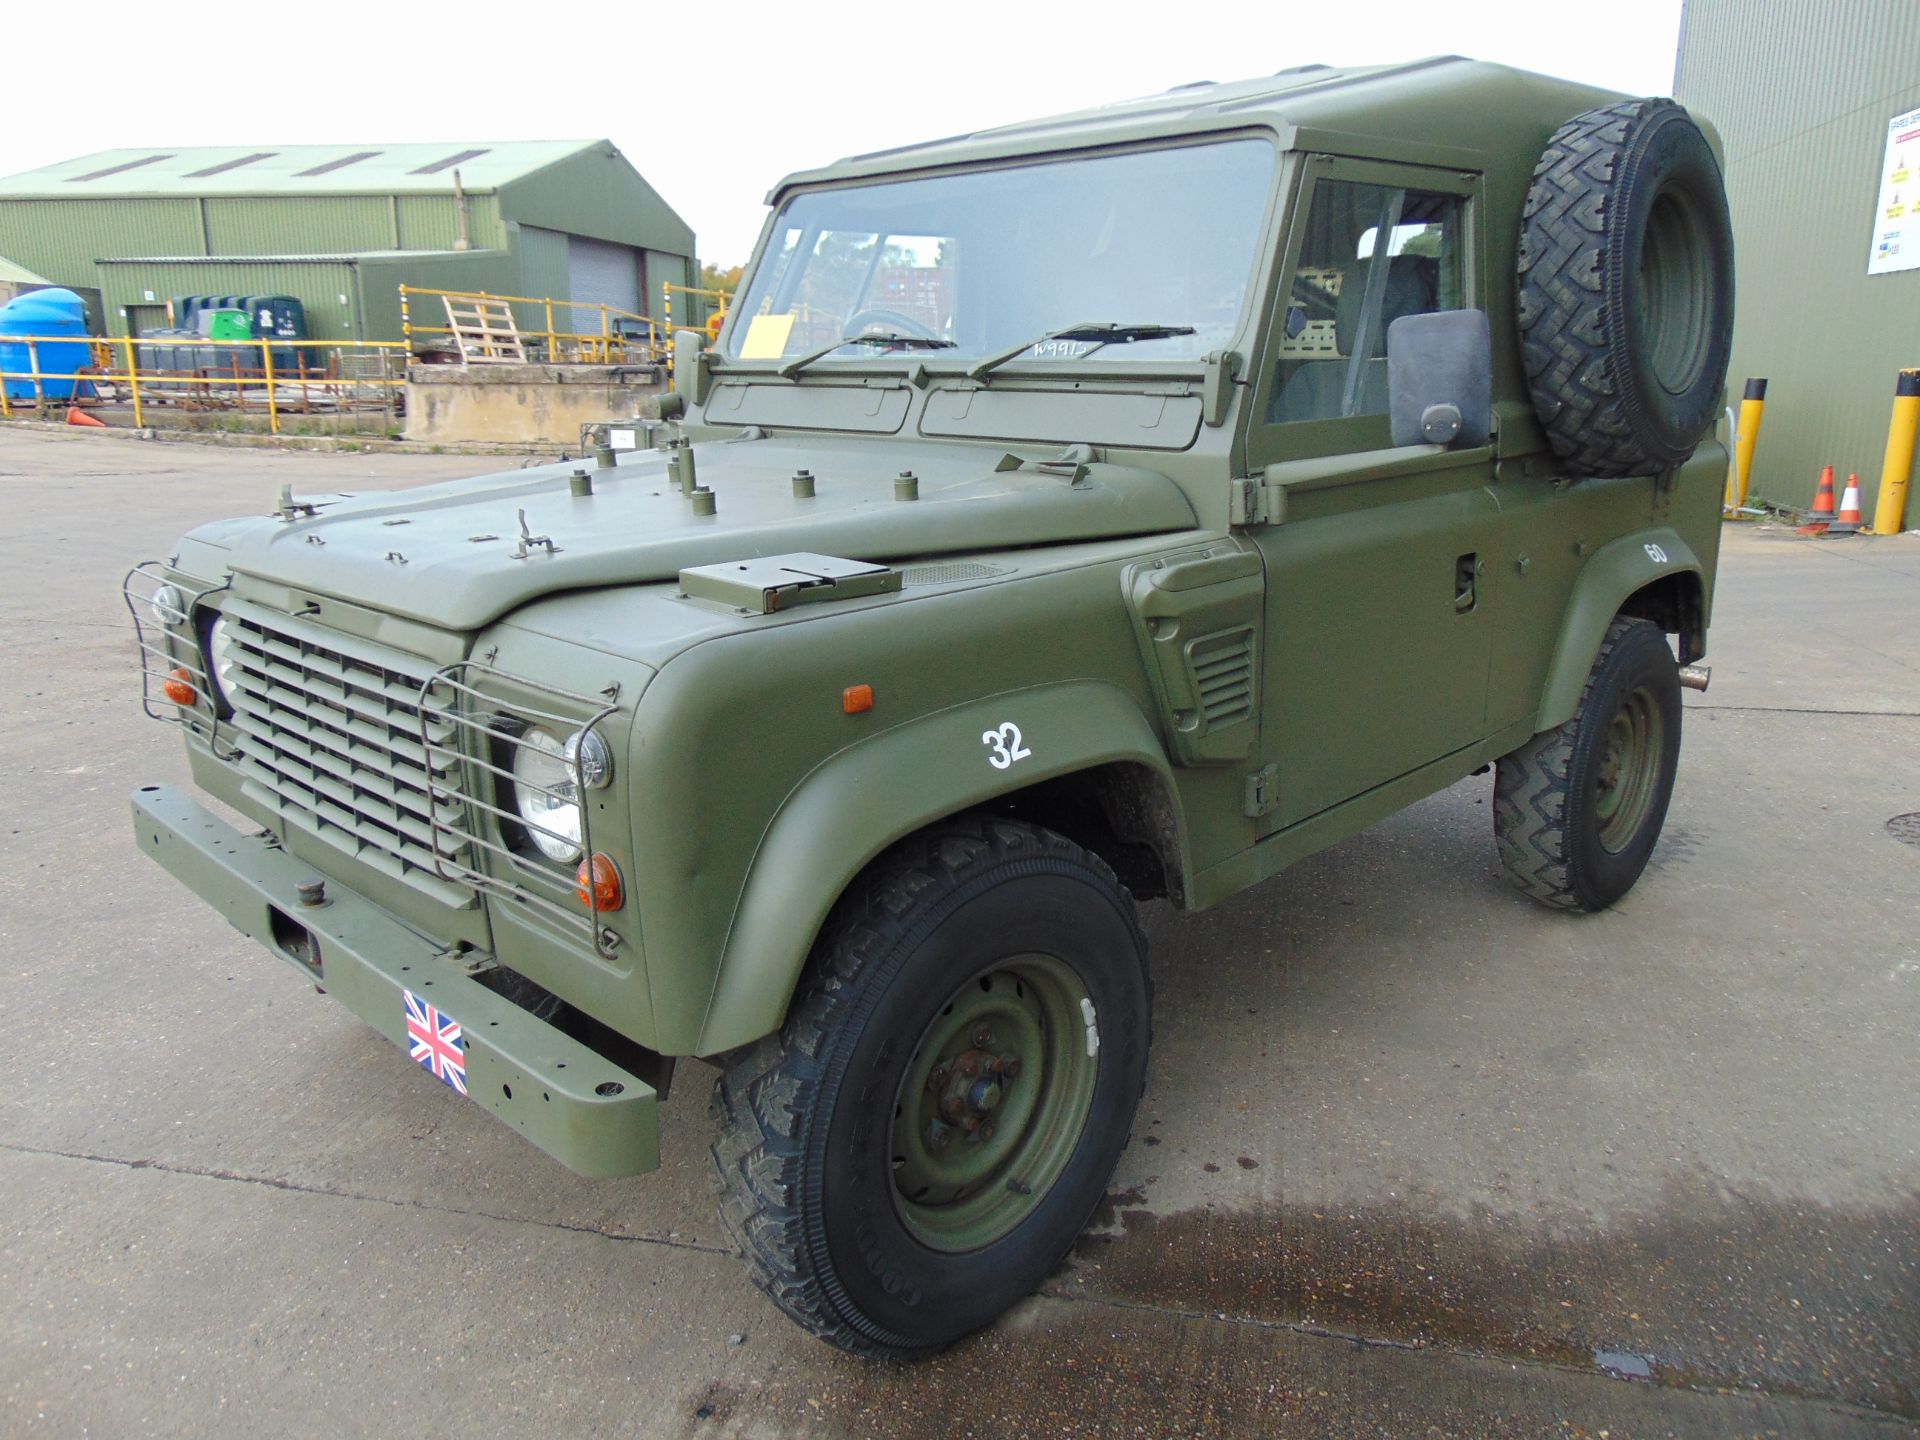
[[[1887,121],[1920,106],[1920,4],[1686,0],[1674,94],[1726,142],[1728,380],[1770,382],[1753,488],[1807,505],[1832,465],[1872,515],[1895,371],[1920,365],[1920,271],[1866,273]]]

